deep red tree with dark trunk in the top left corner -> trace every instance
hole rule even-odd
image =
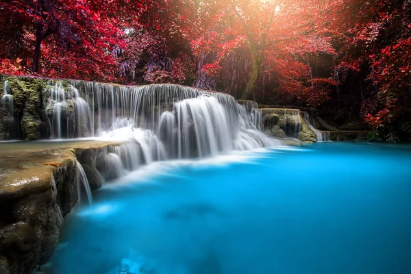
[[[0,3],[3,64],[51,77],[114,79],[114,45],[121,44],[115,18],[101,16],[93,1],[30,0]],[[43,55],[43,56],[42,56]],[[43,57],[43,58],[42,58]],[[41,65],[41,67],[40,67]],[[12,71],[7,71],[7,70]],[[4,71],[6,70],[6,71]],[[14,71],[13,71],[14,70]]]

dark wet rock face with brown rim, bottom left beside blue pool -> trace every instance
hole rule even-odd
[[[72,155],[58,168],[37,165],[0,182],[0,258],[11,274],[29,273],[53,254],[78,199],[74,162]]]

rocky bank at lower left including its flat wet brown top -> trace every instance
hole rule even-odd
[[[30,273],[58,243],[64,216],[76,205],[77,160],[90,186],[101,187],[99,155],[121,142],[8,142],[0,158],[0,273]]]

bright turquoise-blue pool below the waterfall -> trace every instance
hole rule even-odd
[[[66,218],[51,270],[410,274],[411,147],[323,143],[147,166]]]

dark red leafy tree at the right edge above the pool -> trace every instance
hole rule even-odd
[[[336,73],[366,74],[371,92],[362,102],[362,114],[372,127],[383,129],[384,138],[395,141],[401,137],[394,132],[410,134],[410,1],[338,4],[340,13],[331,25],[340,45]]]

